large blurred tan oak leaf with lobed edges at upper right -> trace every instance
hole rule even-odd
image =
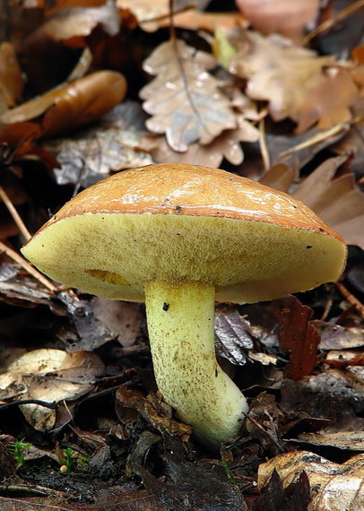
[[[332,56],[316,56],[277,34],[264,37],[246,31],[241,44],[230,71],[247,78],[250,98],[269,101],[275,121],[290,117],[301,132],[316,122],[326,129],[351,118],[349,108],[358,100],[358,88],[346,69],[334,65]]]

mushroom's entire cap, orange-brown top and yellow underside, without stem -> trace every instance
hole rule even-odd
[[[221,169],[130,169],[76,195],[22,248],[54,280],[143,301],[146,281],[201,281],[216,299],[274,299],[337,280],[343,239],[298,200]]]

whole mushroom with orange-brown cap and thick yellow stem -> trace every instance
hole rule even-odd
[[[90,186],[22,248],[68,286],[144,301],[160,392],[207,446],[248,406],[219,367],[214,302],[256,302],[337,280],[343,239],[307,206],[221,169],[150,165]]]

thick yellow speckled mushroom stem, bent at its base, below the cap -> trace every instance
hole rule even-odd
[[[247,401],[217,363],[212,285],[199,282],[145,284],[154,374],[163,398],[216,447],[238,434]]]

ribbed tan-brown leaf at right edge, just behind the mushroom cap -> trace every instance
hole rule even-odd
[[[292,194],[307,204],[350,245],[364,248],[364,194],[351,173],[334,178],[346,157],[325,160]]]

